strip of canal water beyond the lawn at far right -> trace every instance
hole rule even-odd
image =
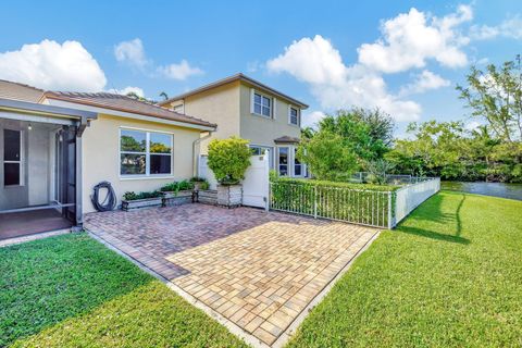
[[[522,200],[522,184],[442,182],[442,189]]]

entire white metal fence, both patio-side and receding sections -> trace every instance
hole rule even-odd
[[[270,184],[270,209],[393,228],[439,188],[439,178],[421,181],[395,191],[278,181]]]

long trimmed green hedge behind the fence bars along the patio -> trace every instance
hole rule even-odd
[[[393,192],[398,189],[386,185],[293,178],[273,181],[271,187],[272,209],[382,227],[388,226],[388,207],[394,207]],[[394,214],[391,208],[391,216]]]

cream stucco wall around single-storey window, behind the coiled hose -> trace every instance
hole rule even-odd
[[[133,127],[145,130],[160,130],[173,134],[174,165],[169,177],[125,178],[120,176],[120,128]],[[192,176],[192,142],[200,132],[161,123],[99,115],[83,135],[83,206],[84,213],[94,211],[90,201],[92,187],[108,181],[114,187],[119,204],[126,191],[151,191],[166,183],[187,179]]]

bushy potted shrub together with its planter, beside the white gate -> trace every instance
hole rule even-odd
[[[243,203],[240,182],[250,165],[252,152],[248,140],[237,137],[214,139],[209,144],[208,165],[217,181],[217,204],[237,207]]]

